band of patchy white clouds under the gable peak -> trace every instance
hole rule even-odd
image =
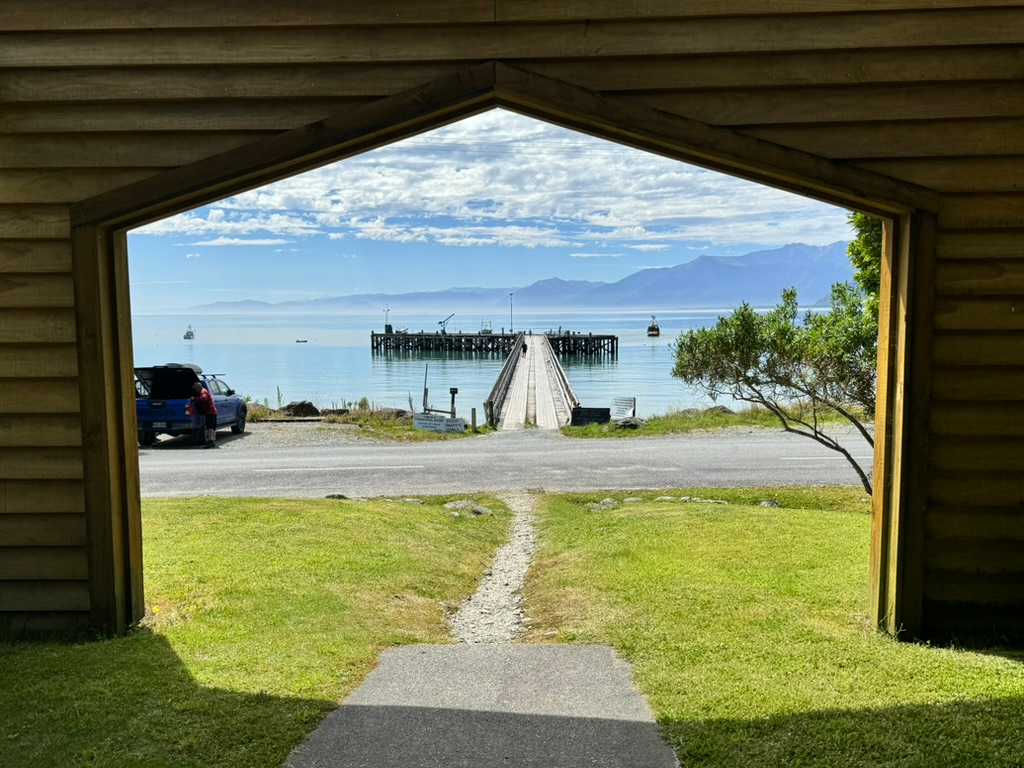
[[[824,245],[850,237],[845,212],[830,206],[501,111],[139,231],[214,243],[327,234],[639,251],[680,241]]]

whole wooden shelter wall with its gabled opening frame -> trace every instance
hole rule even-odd
[[[0,622],[143,611],[125,228],[504,108],[887,217],[873,618],[1024,628],[1024,2],[0,5]]]

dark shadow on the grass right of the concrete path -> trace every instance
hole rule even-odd
[[[1022,722],[1024,698],[988,698],[659,725],[685,766],[1016,768]]]

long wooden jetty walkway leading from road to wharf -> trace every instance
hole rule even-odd
[[[577,404],[558,357],[546,336],[523,336],[515,373],[498,421],[500,430],[558,429]],[[513,354],[516,352],[513,351]]]

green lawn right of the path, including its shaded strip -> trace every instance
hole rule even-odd
[[[535,640],[632,662],[682,765],[1024,765],[1020,655],[868,626],[862,493],[681,493],[733,503],[548,497],[526,612]]]

